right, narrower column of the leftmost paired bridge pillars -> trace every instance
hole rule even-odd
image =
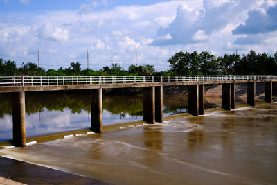
[[[155,86],[155,121],[163,123],[163,86]]]

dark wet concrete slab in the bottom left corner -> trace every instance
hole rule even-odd
[[[0,157],[0,177],[0,184],[109,184],[5,157]]]

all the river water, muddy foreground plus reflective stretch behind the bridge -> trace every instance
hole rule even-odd
[[[205,95],[206,108],[220,107],[218,89]],[[244,104],[240,95],[237,103]],[[89,102],[89,96],[72,94],[26,95],[27,136],[89,127]],[[142,102],[142,96],[104,96],[104,125],[141,120]],[[9,103],[1,98],[3,140],[12,135]],[[163,114],[171,116],[185,113],[188,101],[167,95],[163,105]],[[3,148],[0,156],[114,184],[277,184],[277,103],[122,125],[103,134],[69,134]]]

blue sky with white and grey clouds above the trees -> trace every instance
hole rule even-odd
[[[277,0],[0,0],[0,58],[58,69],[168,70],[179,51],[277,51]]]

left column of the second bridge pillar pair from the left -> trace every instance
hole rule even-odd
[[[188,113],[199,115],[198,85],[188,85]]]

